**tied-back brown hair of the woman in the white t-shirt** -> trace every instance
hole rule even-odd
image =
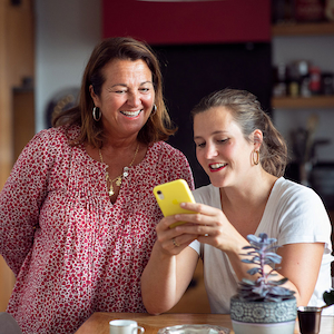
[[[250,141],[250,134],[259,129],[263,132],[263,143],[259,148],[262,167],[276,177],[284,175],[288,160],[286,143],[269,116],[263,111],[256,96],[246,90],[229,88],[213,92],[203,98],[191,110],[193,119],[195,115],[213,107],[228,108],[247,141]]]

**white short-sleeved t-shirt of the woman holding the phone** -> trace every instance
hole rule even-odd
[[[222,209],[219,188],[204,186],[194,191],[197,203]],[[323,293],[331,289],[331,222],[318,195],[311,188],[278,178],[272,189],[255,235],[266,233],[277,245],[325,243],[320,275],[308,305],[324,305]],[[212,313],[229,313],[229,299],[236,294],[238,278],[227,255],[206,244],[190,244],[204,261],[204,282]],[[307,279],[307,277],[305,277]],[[323,314],[334,314],[331,306]]]

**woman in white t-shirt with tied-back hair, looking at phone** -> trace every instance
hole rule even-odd
[[[229,313],[238,282],[254,279],[240,254],[247,235],[259,233],[277,239],[277,279],[288,278],[285,286],[295,291],[297,304],[324,305],[332,281],[331,223],[314,190],[283,177],[286,144],[256,97],[224,89],[204,98],[193,117],[196,156],[210,185],[194,191],[196,204],[181,204],[199,214],[157,225],[141,277],[147,311],[163,313],[179,301],[200,256],[212,312]],[[189,224],[169,228],[178,220]]]

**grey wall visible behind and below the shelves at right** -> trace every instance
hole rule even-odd
[[[275,37],[273,39],[273,63],[288,63],[305,59],[322,71],[334,73],[334,36],[314,37]],[[291,144],[291,131],[306,127],[307,118],[313,112],[320,117],[315,139],[331,139],[330,145],[318,146],[317,157],[322,161],[334,161],[334,106],[332,108],[276,109],[274,122]]]

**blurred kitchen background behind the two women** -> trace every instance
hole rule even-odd
[[[286,177],[334,210],[333,0],[0,0],[0,188],[23,146],[77,101],[102,38],[147,41],[196,186],[190,109],[225,87],[255,94],[288,143]],[[333,220],[333,219],[332,219]],[[0,258],[0,311],[13,277]]]

